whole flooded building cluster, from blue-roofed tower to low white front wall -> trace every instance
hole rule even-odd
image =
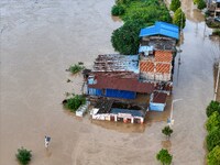
[[[141,30],[139,55],[99,55],[87,76],[87,95],[99,98],[135,99],[138,94],[151,96],[150,110],[163,111],[173,88],[173,64],[178,26],[156,22]],[[146,109],[116,107],[102,101],[91,112],[92,119],[143,123]]]

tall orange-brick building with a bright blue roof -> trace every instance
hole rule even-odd
[[[156,90],[172,91],[173,67],[176,43],[179,38],[178,26],[156,22],[140,32],[140,78],[156,84]]]

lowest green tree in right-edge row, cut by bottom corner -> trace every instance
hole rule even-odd
[[[207,156],[208,165],[220,165],[220,146],[217,145]]]

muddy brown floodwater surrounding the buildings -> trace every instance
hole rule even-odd
[[[205,161],[205,108],[213,97],[212,64],[219,56],[202,15],[187,11],[182,64],[174,75],[174,134],[161,133],[165,121],[146,125],[78,119],[62,108],[65,92],[80,92],[81,76],[65,69],[98,54],[114,53],[110,36],[121,22],[110,16],[113,0],[1,0],[0,10],[0,164],[16,165],[20,146],[32,150],[32,165],[156,165],[168,147],[174,164]],[[196,12],[196,13],[195,13]],[[216,53],[215,53],[216,51]],[[73,82],[67,84],[67,79]],[[52,136],[44,148],[44,135]]]

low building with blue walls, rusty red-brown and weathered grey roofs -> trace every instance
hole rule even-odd
[[[88,77],[88,95],[135,99],[151,94],[154,84],[139,80],[139,55],[99,55]]]

